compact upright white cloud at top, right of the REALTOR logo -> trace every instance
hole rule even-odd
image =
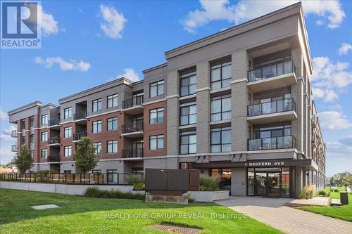
[[[101,4],[100,15],[104,22],[101,22],[100,28],[106,34],[106,36],[113,39],[120,39],[122,37],[122,31],[125,28],[126,18],[116,11],[113,6],[106,6]]]

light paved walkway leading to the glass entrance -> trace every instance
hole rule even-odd
[[[352,233],[352,223],[284,206],[294,199],[235,197],[216,203],[251,216],[284,233]],[[338,208],[337,208],[338,209]]]

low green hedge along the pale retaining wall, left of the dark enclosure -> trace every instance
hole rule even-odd
[[[100,190],[99,188],[89,187],[84,193],[86,197],[101,197],[101,198],[120,198],[120,199],[135,199],[144,200],[144,195],[139,193],[122,192],[120,190]]]

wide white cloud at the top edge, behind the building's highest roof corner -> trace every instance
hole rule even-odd
[[[199,0],[201,9],[189,11],[187,18],[182,20],[184,30],[196,32],[196,28],[206,25],[213,20],[227,20],[236,25],[265,15],[279,8],[295,4],[298,0],[289,1],[255,1],[241,0],[237,4],[230,4],[228,0],[206,1]],[[332,1],[302,1],[303,10],[306,14],[318,15],[327,18],[329,28],[339,27],[346,16],[338,0]],[[324,24],[324,20],[316,21],[318,25]]]

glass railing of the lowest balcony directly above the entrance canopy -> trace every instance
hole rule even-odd
[[[248,150],[277,150],[296,148],[296,138],[290,136],[277,136],[268,138],[248,139]]]

